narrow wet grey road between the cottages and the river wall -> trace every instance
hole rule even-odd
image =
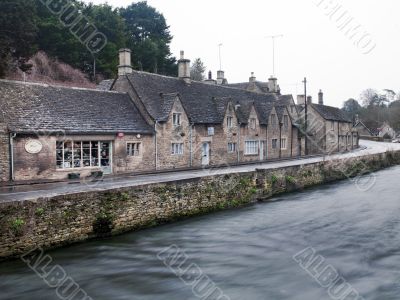
[[[88,191],[104,191],[108,189],[117,189],[130,186],[138,186],[151,183],[163,183],[176,180],[193,179],[210,175],[223,175],[231,173],[245,173],[255,171],[256,169],[274,169],[279,167],[288,167],[315,163],[325,160],[334,160],[340,158],[358,157],[369,154],[383,153],[389,150],[400,150],[400,144],[378,143],[372,141],[360,141],[362,149],[344,154],[335,154],[324,157],[313,157],[306,159],[296,159],[279,162],[265,162],[260,164],[233,166],[229,168],[203,169],[190,171],[176,171],[162,174],[135,175],[126,177],[105,178],[97,182],[81,183],[46,183],[35,185],[23,185],[14,187],[0,188],[0,202],[24,201],[41,197],[53,197],[58,195],[73,194]]]

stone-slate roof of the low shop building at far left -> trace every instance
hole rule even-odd
[[[124,93],[0,80],[0,108],[15,133],[153,133]]]

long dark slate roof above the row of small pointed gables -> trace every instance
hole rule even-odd
[[[263,115],[261,124],[267,124],[268,115],[261,110],[269,109],[268,103],[272,104],[279,100],[273,94],[254,93],[227,85],[212,85],[197,81],[186,83],[179,78],[146,72],[134,71],[127,75],[127,78],[147,111],[158,121],[165,120],[166,117],[160,93],[178,94],[189,120],[196,124],[221,124],[221,111],[226,107],[227,101],[232,101],[234,105],[240,104],[237,113],[242,124],[247,124],[253,103],[257,113]]]

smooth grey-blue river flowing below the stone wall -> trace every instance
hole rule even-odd
[[[49,254],[94,300],[199,299],[157,258],[173,244],[224,299],[331,299],[329,286],[293,259],[311,247],[324,260],[320,270],[332,266],[348,290],[399,299],[399,174],[400,167],[376,173],[368,192],[343,181]],[[0,299],[58,298],[22,261],[11,261],[0,264]]]

